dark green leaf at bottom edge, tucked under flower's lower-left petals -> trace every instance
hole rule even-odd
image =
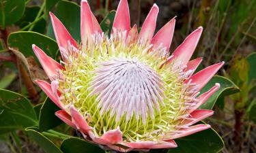
[[[104,153],[104,150],[100,149],[98,146],[84,141],[83,139],[79,138],[68,138],[65,139],[61,143],[61,150],[63,153],[89,153],[89,152],[97,152],[97,153]]]

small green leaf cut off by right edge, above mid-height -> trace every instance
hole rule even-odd
[[[256,71],[255,71],[255,67],[256,67],[256,52],[253,52],[252,54],[248,55],[246,57],[246,60],[248,61],[250,68],[249,68],[249,74],[248,74],[248,78],[249,78],[249,82],[251,82],[252,80],[256,80]]]

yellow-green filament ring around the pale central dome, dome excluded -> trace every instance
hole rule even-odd
[[[100,36],[98,36],[100,37]],[[68,106],[74,105],[84,116],[85,120],[93,127],[96,135],[116,129],[119,126],[123,133],[124,141],[155,140],[166,133],[175,131],[182,120],[185,107],[184,80],[180,78],[179,68],[173,69],[173,64],[164,65],[167,54],[165,48],[154,48],[146,42],[138,39],[129,40],[124,43],[124,37],[113,35],[109,39],[104,35],[97,38],[98,41],[93,46],[84,47],[78,52],[73,52],[68,56],[68,63],[64,63],[66,71],[61,71],[59,75],[59,90],[61,91],[61,103]],[[70,49],[71,50],[71,49]],[[69,51],[70,51],[69,50]],[[70,51],[72,52],[72,50]],[[96,69],[101,67],[101,63],[108,63],[116,59],[132,61],[136,59],[141,65],[150,67],[162,80],[165,97],[159,102],[159,109],[153,107],[154,116],[150,116],[147,110],[147,118],[143,120],[133,112],[130,118],[126,118],[126,113],[116,120],[117,114],[111,114],[111,109],[100,112],[102,107],[98,94],[91,95],[91,82],[96,76]],[[122,88],[122,87],[120,87]],[[139,103],[140,104],[140,103]]]

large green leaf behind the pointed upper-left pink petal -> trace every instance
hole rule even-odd
[[[68,10],[68,11],[67,11]],[[72,37],[76,41],[80,41],[80,7],[74,2],[70,1],[59,1],[53,12],[63,25],[68,29]],[[49,37],[55,39],[53,33],[53,27],[51,24],[48,25],[48,31],[46,33]]]

